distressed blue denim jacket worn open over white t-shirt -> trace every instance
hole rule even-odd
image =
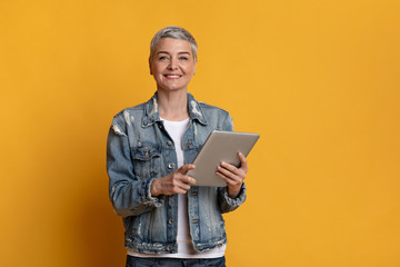
[[[188,93],[189,125],[182,137],[184,164],[191,164],[214,130],[232,130],[229,113],[198,102]],[[144,103],[119,112],[112,120],[107,144],[109,195],[114,211],[122,216],[126,247],[148,254],[178,251],[178,196],[152,197],[151,182],[177,169],[174,144],[160,120],[157,92]],[[193,247],[204,251],[227,243],[223,212],[246,199],[227,188],[191,186],[188,191],[190,235]]]

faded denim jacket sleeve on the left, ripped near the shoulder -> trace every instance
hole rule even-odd
[[[163,204],[163,196],[152,197],[150,189],[154,179],[138,179],[124,121],[114,117],[107,140],[107,172],[109,197],[119,216],[137,216]]]

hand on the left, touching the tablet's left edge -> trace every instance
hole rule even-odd
[[[183,165],[168,176],[153,180],[150,189],[151,196],[186,194],[190,186],[196,184],[193,178],[186,176],[186,172],[194,168],[194,165]]]

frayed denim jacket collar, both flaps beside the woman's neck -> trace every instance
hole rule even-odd
[[[157,121],[161,121],[159,109],[158,109],[158,96],[157,92],[154,96],[146,102],[144,105],[144,116],[142,119],[142,127],[149,127]],[[207,119],[200,108],[198,101],[194,100],[194,97],[188,92],[188,110],[191,120],[198,120],[202,125],[207,125]]]

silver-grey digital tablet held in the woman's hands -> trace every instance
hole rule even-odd
[[[196,186],[226,187],[227,182],[216,175],[217,167],[221,161],[239,167],[238,152],[247,157],[259,137],[258,134],[212,131],[193,161],[196,169],[187,175],[196,179]]]

